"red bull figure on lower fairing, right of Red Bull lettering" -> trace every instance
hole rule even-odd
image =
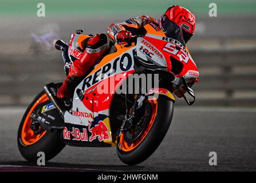
[[[111,138],[108,134],[108,128],[104,124],[103,121],[99,121],[99,124],[95,125],[93,128],[91,128],[91,125],[92,125],[92,122],[89,121],[88,130],[89,130],[89,132],[92,133],[92,135],[89,138],[90,142],[92,142],[96,138],[98,138],[98,140],[100,142],[103,141],[103,140],[108,140],[108,141],[111,140]]]

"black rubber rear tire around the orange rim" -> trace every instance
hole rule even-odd
[[[27,108],[21,123],[18,129],[18,149],[21,155],[27,160],[31,162],[36,162],[38,157],[38,152],[45,153],[45,160],[48,161],[55,157],[60,151],[65,147],[65,144],[61,141],[61,132],[45,132],[39,140],[33,142],[33,144],[27,144],[22,140],[22,128],[25,124],[25,120],[27,116],[31,113],[31,108],[36,105],[36,102],[40,100],[42,96],[45,95],[45,92],[41,92],[38,94],[36,98],[31,102],[29,107]],[[38,104],[37,104],[38,105]]]

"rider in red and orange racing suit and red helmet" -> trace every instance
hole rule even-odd
[[[164,32],[166,27],[172,26],[172,23],[182,28],[184,44],[187,43],[195,31],[195,16],[189,10],[182,6],[171,6],[162,17],[156,20],[148,15],[130,18],[122,23],[112,23],[108,27],[107,34],[95,34],[86,42],[86,49],[81,54],[80,59],[76,59],[69,68],[69,74],[64,83],[58,89],[57,97],[70,99],[77,81],[84,77],[89,69],[111,49],[113,42],[118,44],[127,43],[132,35],[145,35],[144,26],[153,23]],[[188,83],[191,86],[193,83]],[[179,91],[179,90],[178,90]],[[175,93],[181,97],[179,92]]]

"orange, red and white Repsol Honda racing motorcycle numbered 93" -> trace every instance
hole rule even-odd
[[[109,53],[78,82],[70,101],[56,97],[61,83],[49,83],[34,98],[18,129],[19,152],[27,161],[37,161],[38,152],[50,160],[65,145],[116,146],[120,160],[128,165],[139,164],[155,152],[172,121],[173,93],[179,91],[192,105],[195,96],[187,83],[196,81],[199,72],[180,26],[163,31],[150,23],[144,29],[143,36],[125,45],[112,43]],[[61,40],[55,44],[62,50],[66,74],[92,36],[81,33],[72,34],[69,45]],[[145,92],[117,92],[131,87],[126,81],[136,74],[157,75],[158,86]],[[111,79],[112,87],[101,93],[99,88],[111,85]],[[142,89],[139,84],[133,87]]]

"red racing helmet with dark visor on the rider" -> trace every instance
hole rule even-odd
[[[187,43],[195,31],[195,15],[192,14],[188,9],[182,6],[171,6],[166,10],[166,13],[160,18],[160,27],[166,29],[169,24],[172,26],[173,23],[182,28],[183,38],[185,43]],[[163,26],[165,25],[165,26]]]

